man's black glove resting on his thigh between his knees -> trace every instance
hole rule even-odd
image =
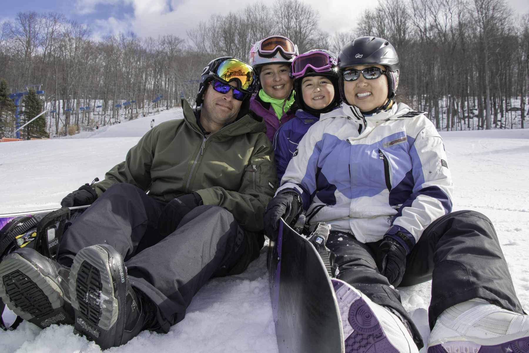
[[[195,207],[203,205],[202,197],[198,193],[182,195],[171,200],[160,214],[158,219],[158,233],[167,237],[174,232],[180,221]]]

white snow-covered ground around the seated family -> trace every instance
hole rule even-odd
[[[121,162],[156,123],[181,109],[84,132],[73,138],[0,143],[0,214],[59,207],[63,196]],[[529,311],[529,129],[442,132],[455,193],[454,211],[476,210],[495,224],[519,299]],[[427,340],[431,283],[398,288]],[[40,330],[23,322],[0,331],[4,352],[99,352],[71,327]],[[245,273],[213,279],[193,299],[186,318],[168,334],[142,332],[110,352],[277,352],[266,248]],[[421,353],[424,353],[424,349]]]

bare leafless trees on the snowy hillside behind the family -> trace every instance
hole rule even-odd
[[[350,31],[333,34],[299,0],[212,15],[186,39],[121,33],[96,40],[59,13],[19,13],[1,30],[0,79],[11,93],[42,84],[44,108],[56,111],[45,118],[52,136],[134,119],[181,98],[193,103],[209,60],[247,60],[251,44],[271,34],[290,38],[300,53],[339,52],[361,35],[386,38],[400,57],[400,98],[440,130],[524,128],[527,115],[529,14],[515,16],[504,0],[379,0],[351,19]],[[0,137],[13,137],[12,108],[0,97]]]

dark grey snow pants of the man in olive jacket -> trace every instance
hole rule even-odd
[[[156,231],[163,205],[140,188],[118,183],[107,189],[65,232],[59,262],[71,265],[85,247],[108,244],[121,253],[133,287],[158,306],[149,327],[168,332],[184,319],[191,298],[209,278],[240,273],[249,261],[248,239],[231,212],[198,206],[176,231]],[[157,325],[158,324],[158,325]]]

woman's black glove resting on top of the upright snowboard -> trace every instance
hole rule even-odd
[[[285,222],[290,224],[301,211],[300,206],[300,197],[296,192],[286,192],[272,198],[263,213],[266,236],[270,240],[276,240],[279,219],[283,217]]]

